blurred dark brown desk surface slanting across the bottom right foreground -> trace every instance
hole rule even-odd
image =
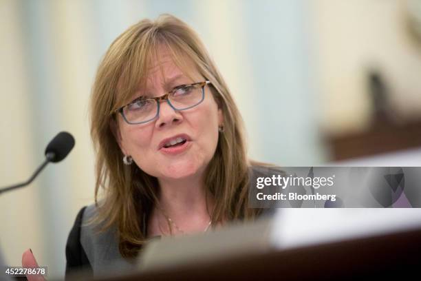
[[[402,280],[420,249],[418,229],[96,280]]]

